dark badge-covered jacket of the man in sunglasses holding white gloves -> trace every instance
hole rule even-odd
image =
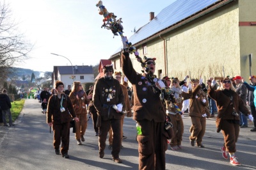
[[[108,102],[109,95],[112,99]],[[113,105],[124,105],[124,94],[120,83],[116,79],[106,80],[101,77],[95,84],[93,91],[93,105],[97,109],[97,114],[102,120],[121,119],[122,114],[113,109]]]

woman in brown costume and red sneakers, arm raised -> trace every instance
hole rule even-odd
[[[239,136],[239,112],[246,116],[250,114],[243,100],[236,93],[229,77],[225,77],[220,89],[214,90],[215,80],[212,80],[211,88],[208,89],[208,95],[216,101],[218,115],[216,119],[217,132],[222,132],[224,145],[221,146],[222,157],[228,159],[230,155],[230,164],[241,166],[235,156],[236,142]]]

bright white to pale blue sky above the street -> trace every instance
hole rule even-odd
[[[97,65],[109,59],[121,47],[120,36],[101,28],[98,1],[94,0],[4,0],[20,33],[33,44],[29,59],[14,66],[40,72],[52,72],[53,66]],[[149,13],[156,15],[176,0],[106,0],[108,12],[122,18],[124,35],[132,36],[149,22]],[[51,53],[65,56],[54,56]],[[68,61],[68,58],[70,61]]]

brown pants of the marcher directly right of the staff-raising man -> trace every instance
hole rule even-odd
[[[180,114],[168,114],[171,118],[173,125],[173,137],[170,142],[170,146],[177,146],[181,144],[182,135],[184,133],[184,125]]]

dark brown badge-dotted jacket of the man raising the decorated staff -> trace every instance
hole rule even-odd
[[[124,52],[122,55],[122,69],[132,84],[134,102],[133,102],[133,119],[134,120],[154,120],[155,122],[164,122],[166,112],[160,100],[160,93],[154,93],[154,89],[148,84],[147,77],[137,73],[132,67],[129,53]]]

